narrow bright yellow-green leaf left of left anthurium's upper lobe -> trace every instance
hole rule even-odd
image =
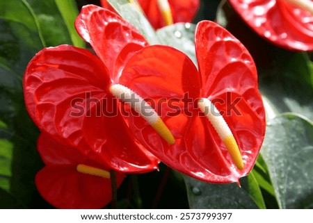
[[[64,19],[64,22],[67,26],[68,31],[70,32],[71,40],[76,47],[84,48],[85,44],[80,36],[77,34],[77,31],[74,27],[74,22],[79,14],[77,10],[77,3],[74,0],[54,0],[56,2],[56,6],[58,6],[58,10]]]

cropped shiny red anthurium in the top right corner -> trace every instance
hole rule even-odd
[[[285,49],[313,50],[311,0],[230,0],[242,19],[266,40]]]

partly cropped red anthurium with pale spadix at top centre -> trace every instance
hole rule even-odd
[[[106,0],[101,3],[104,8],[113,10]],[[155,29],[177,22],[192,22],[200,5],[199,0],[138,0],[138,3]]]

